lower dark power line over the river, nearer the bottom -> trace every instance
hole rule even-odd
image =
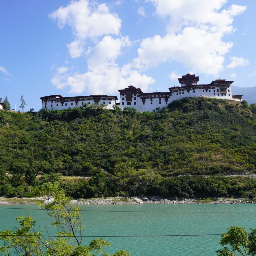
[[[124,236],[76,236],[76,237],[169,237],[169,236],[220,236],[222,234],[187,234],[187,235],[124,235]],[[1,235],[1,236],[41,236],[41,237],[75,237],[75,236],[49,236],[49,235]]]

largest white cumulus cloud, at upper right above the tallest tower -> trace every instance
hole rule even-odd
[[[156,14],[169,19],[165,36],[142,40],[134,66],[157,67],[166,61],[178,61],[196,72],[217,75],[223,70],[224,55],[233,46],[223,36],[235,31],[234,16],[246,6],[232,4],[220,11],[227,0],[148,0]]]

